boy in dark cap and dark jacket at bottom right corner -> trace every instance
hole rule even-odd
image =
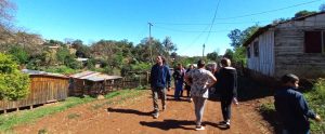
[[[297,92],[299,78],[287,73],[281,78],[283,89],[276,90],[274,95],[275,110],[283,122],[284,134],[309,134],[309,118],[321,120],[321,117],[308,108],[303,95]]]

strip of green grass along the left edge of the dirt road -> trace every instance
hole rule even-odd
[[[118,102],[122,102],[122,100],[126,100],[127,98],[133,98],[138,95],[141,95],[142,93],[144,93],[143,90],[115,91],[115,92],[112,92],[112,93],[108,93],[107,95],[105,95],[105,99],[107,99],[107,102],[105,102],[103,104],[93,105],[93,109],[99,109],[106,104],[113,104],[114,100],[110,100],[110,98],[120,96],[120,99],[118,99]],[[77,106],[80,104],[86,104],[86,103],[89,103],[92,100],[95,100],[95,98],[89,97],[89,96],[86,96],[83,98],[68,97],[66,100],[60,102],[57,105],[44,106],[44,107],[39,107],[39,108],[32,109],[32,110],[12,112],[12,113],[8,113],[8,115],[0,115],[0,133],[1,132],[12,133],[11,129],[13,129],[16,125],[28,124],[28,123],[39,120],[42,117],[46,117],[49,115],[54,115],[56,112],[64,111],[74,106]],[[75,119],[75,118],[78,118],[79,116],[80,115],[72,113],[67,118]]]

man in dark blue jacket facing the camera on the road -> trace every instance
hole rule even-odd
[[[153,92],[154,113],[153,117],[159,117],[158,95],[161,98],[162,110],[166,109],[166,88],[170,86],[170,72],[168,66],[164,65],[162,57],[157,56],[156,64],[151,71],[151,86]]]

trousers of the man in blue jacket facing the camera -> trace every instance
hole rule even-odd
[[[154,112],[159,113],[158,97],[161,99],[162,107],[166,107],[166,88],[152,88]]]

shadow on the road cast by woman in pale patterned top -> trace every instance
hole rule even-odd
[[[194,125],[194,122],[186,121],[186,120],[164,120],[164,121],[153,121],[153,122],[140,121],[140,124],[168,131],[171,129],[193,130],[193,126],[188,128],[185,125]]]

